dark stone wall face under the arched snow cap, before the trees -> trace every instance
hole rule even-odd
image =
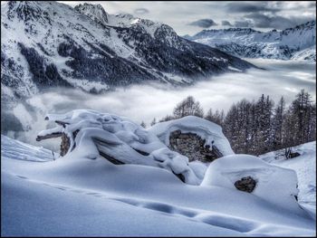
[[[189,161],[211,162],[218,157],[223,157],[215,146],[210,149],[208,145],[205,146],[205,142],[205,139],[194,133],[181,133],[180,130],[173,131],[169,136],[169,148],[188,157]]]

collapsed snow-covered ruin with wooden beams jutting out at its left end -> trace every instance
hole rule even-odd
[[[91,109],[75,109],[45,117],[57,126],[41,131],[36,140],[62,137],[61,156],[105,157],[114,164],[136,164],[169,170],[183,182],[201,182],[188,158],[170,150],[157,136],[130,119]]]

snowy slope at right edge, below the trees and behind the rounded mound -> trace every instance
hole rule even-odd
[[[310,209],[312,216],[316,217],[316,141],[295,147],[293,152],[295,151],[301,156],[286,160],[283,157],[283,150],[278,150],[260,157],[266,162],[296,172],[300,191],[298,201]]]

